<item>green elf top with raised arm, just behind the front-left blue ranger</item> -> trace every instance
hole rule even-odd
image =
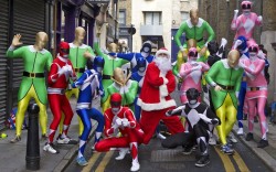
[[[96,53],[102,56],[105,60],[105,66],[103,69],[103,86],[105,89],[105,93],[107,93],[107,87],[109,85],[113,84],[112,79],[106,79],[105,77],[108,76],[113,76],[113,72],[116,67],[121,67],[124,64],[128,63],[128,61],[123,60],[123,58],[113,58],[107,54],[104,54],[97,42],[94,43],[94,50],[96,51]],[[107,94],[105,94],[105,96],[102,98],[102,103],[105,103],[107,99]]]

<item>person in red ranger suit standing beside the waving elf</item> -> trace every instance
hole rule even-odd
[[[53,61],[47,77],[47,99],[54,118],[50,125],[47,142],[45,143],[43,150],[51,153],[59,153],[59,150],[53,147],[53,139],[61,121],[62,112],[65,117],[63,121],[63,132],[57,138],[57,143],[74,143],[74,140],[71,140],[67,137],[68,127],[74,114],[70,106],[70,101],[65,96],[65,90],[67,88],[68,79],[72,78],[75,80],[76,74],[73,69],[71,61],[68,60],[68,43],[61,42],[57,57]]]

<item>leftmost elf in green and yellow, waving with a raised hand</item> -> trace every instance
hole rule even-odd
[[[44,49],[47,43],[47,34],[45,32],[38,32],[34,45],[22,46],[17,50],[15,46],[22,44],[20,42],[21,35],[13,36],[11,46],[7,51],[8,58],[23,58],[24,72],[18,93],[18,112],[15,118],[15,138],[10,142],[15,143],[21,140],[21,129],[24,120],[24,114],[31,98],[35,100],[40,107],[40,125],[42,137],[46,138],[46,103],[47,92],[45,85],[44,69],[50,69],[53,62],[52,54]]]

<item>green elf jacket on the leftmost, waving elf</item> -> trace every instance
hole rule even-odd
[[[23,58],[24,71],[29,73],[44,73],[45,67],[49,71],[53,62],[52,54],[49,51],[43,49],[42,51],[36,52],[33,45],[22,46],[17,50],[9,49],[7,51],[7,57]],[[18,101],[25,97],[32,85],[34,86],[40,101],[45,105],[47,101],[45,77],[23,76],[18,93]]]

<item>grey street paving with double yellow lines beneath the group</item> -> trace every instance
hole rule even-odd
[[[177,101],[179,101],[179,93],[174,93]],[[173,97],[174,97],[173,96]],[[74,109],[76,99],[71,99],[71,105]],[[47,109],[49,123],[52,121],[52,114]],[[78,123],[76,114],[72,120],[68,135],[73,139],[77,139]],[[95,122],[93,125],[95,130]],[[244,121],[245,132],[247,132],[247,121]],[[254,140],[245,141],[245,136],[236,136],[237,143],[234,144],[235,154],[225,155],[220,151],[220,147],[210,147],[211,163],[205,168],[194,166],[194,153],[191,155],[183,155],[182,148],[174,150],[163,149],[160,140],[153,138],[148,146],[141,144],[139,147],[139,162],[141,164],[141,172],[147,171],[205,171],[205,172],[233,172],[233,171],[253,171],[253,172],[276,172],[276,126],[269,125],[268,141],[269,147],[259,149],[256,148],[259,141],[259,125],[255,125]],[[233,129],[235,133],[236,126]],[[10,143],[10,139],[14,136],[14,130],[4,130],[8,138],[0,139],[0,171],[1,172],[22,172],[25,170],[25,150],[26,150],[26,130],[22,131],[22,140],[18,143]],[[93,140],[93,138],[92,138]],[[89,164],[81,168],[76,164],[75,158],[78,146],[57,146],[60,149],[59,154],[51,154],[44,152],[43,146],[45,140],[40,141],[40,170],[41,172],[50,171],[96,171],[96,172],[125,172],[129,171],[131,165],[131,157],[128,154],[124,161],[114,160],[117,157],[117,151],[109,151],[106,153],[93,152],[91,150],[91,142],[86,147],[85,158]]]

